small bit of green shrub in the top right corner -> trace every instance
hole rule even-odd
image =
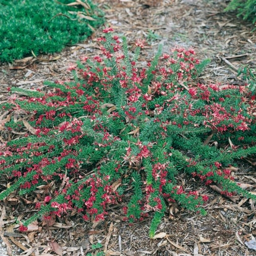
[[[255,0],[232,0],[224,11],[236,11],[237,17],[242,16],[244,20],[256,22]]]

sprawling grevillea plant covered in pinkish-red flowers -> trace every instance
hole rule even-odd
[[[70,65],[74,78],[45,82],[47,93],[11,88],[25,96],[12,95],[1,105],[4,113],[19,114],[6,122],[6,132],[27,130],[0,153],[0,173],[10,184],[0,200],[14,192],[36,198],[38,211],[20,231],[38,218],[71,211],[85,221],[104,220],[109,205],[124,201],[130,223],[154,213],[152,237],[168,202],[206,214],[207,195],[186,192],[177,182],[182,173],[206,186],[221,184],[224,195],[255,199],[229,169],[234,159],[256,153],[255,121],[248,114],[254,103],[246,88],[198,83],[208,60],[198,61],[194,49],[162,54],[160,46],[139,69],[143,40],[131,54],[126,38],[112,31],[105,28],[98,39],[101,56]]]

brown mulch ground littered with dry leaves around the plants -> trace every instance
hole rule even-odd
[[[126,35],[130,44],[137,38],[145,38],[148,45],[139,59],[147,64],[158,45],[164,52],[173,46],[192,46],[199,59],[210,58],[202,83],[244,82],[236,77],[236,68],[248,64],[255,68],[256,34],[249,22],[223,12],[228,1],[184,0],[184,1],[132,1],[96,0],[106,12],[106,25],[111,25],[118,35]],[[92,38],[53,56],[38,56],[2,64],[0,73],[0,100],[6,97],[7,87],[43,87],[44,80],[68,79],[66,72],[70,63],[80,56],[94,56],[100,50],[95,38],[101,36],[97,30]],[[242,55],[239,58],[230,58]],[[228,60],[229,63],[224,62]],[[0,138],[1,139],[1,138]],[[235,165],[235,164],[234,164]],[[250,191],[255,190],[255,160],[236,163],[233,175]],[[211,200],[205,205],[207,216],[184,210],[179,205],[170,205],[156,234],[162,238],[149,239],[151,218],[129,226],[122,221],[121,208],[126,204],[109,207],[109,218],[97,225],[85,223],[77,216],[56,219],[55,223],[35,223],[30,232],[20,234],[7,226],[12,219],[31,216],[27,198],[14,195],[1,203],[2,217],[0,234],[12,255],[87,255],[105,250],[106,255],[256,255],[247,242],[256,235],[254,202],[247,198],[226,198],[216,188],[205,187],[192,177],[179,177],[187,189],[197,187]],[[129,197],[129,194],[127,195]],[[13,229],[14,228],[14,229]],[[165,233],[166,235],[164,235]],[[100,242],[101,249],[92,250],[92,244]],[[247,245],[246,245],[247,244]],[[1,253],[1,250],[0,250]],[[2,252],[4,255],[4,252]]]

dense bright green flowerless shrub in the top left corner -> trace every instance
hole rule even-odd
[[[92,1],[0,0],[0,61],[56,53],[85,40],[103,23]],[[80,4],[79,4],[80,3]]]

